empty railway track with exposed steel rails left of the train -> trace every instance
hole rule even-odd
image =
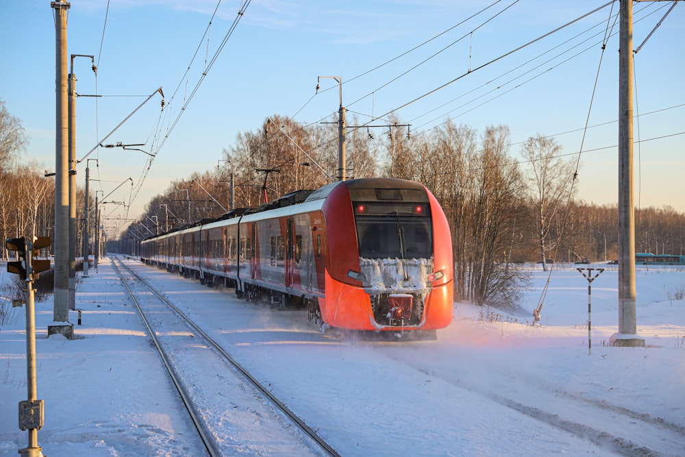
[[[268,433],[268,441],[278,443],[279,455],[339,456],[160,291],[120,259],[113,259],[113,264],[208,455],[233,455],[246,449],[273,454],[273,449],[262,449],[260,444]],[[253,406],[256,396],[260,410]]]

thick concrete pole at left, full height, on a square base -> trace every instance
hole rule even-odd
[[[66,12],[69,2],[50,3],[55,14],[55,288],[53,325],[48,334],[60,333],[71,340],[73,324],[69,323],[69,117],[66,70]]]

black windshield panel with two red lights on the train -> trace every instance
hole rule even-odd
[[[362,258],[431,258],[433,230],[428,203],[355,202]]]

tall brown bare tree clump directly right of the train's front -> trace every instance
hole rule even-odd
[[[520,232],[523,187],[508,143],[507,127],[489,127],[478,145],[474,129],[447,121],[416,147],[417,179],[432,189],[449,221],[460,300],[513,306],[527,279],[506,263],[512,234]]]

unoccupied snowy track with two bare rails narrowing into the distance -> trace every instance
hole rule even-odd
[[[306,423],[304,423],[304,421],[297,417],[297,415],[295,415],[295,413],[292,412],[283,402],[277,399],[244,367],[242,367],[238,362],[236,362],[236,360],[234,360],[234,358],[232,358],[232,356],[230,356],[225,351],[225,349],[223,349],[223,347],[221,347],[219,344],[213,341],[212,338],[210,338],[210,336],[208,336],[205,332],[203,332],[203,330],[201,330],[197,325],[195,325],[195,323],[190,321],[190,319],[188,319],[188,317],[186,317],[186,315],[181,310],[179,310],[179,308],[174,306],[174,304],[172,304],[171,301],[169,301],[169,299],[166,299],[166,297],[164,297],[162,293],[160,293],[157,289],[151,286],[149,282],[144,280],[132,269],[127,267],[127,265],[124,264],[121,261],[121,259],[113,258],[112,262],[114,264],[114,268],[119,273],[119,276],[121,277],[121,280],[125,288],[127,289],[129,296],[131,297],[136,308],[138,309],[138,312],[142,317],[145,326],[147,327],[149,335],[152,338],[153,345],[159,351],[160,357],[164,362],[164,366],[166,367],[166,370],[169,372],[171,380],[175,388],[177,389],[185,408],[188,410],[188,415],[190,416],[192,423],[195,425],[199,437],[203,445],[206,447],[207,452],[210,456],[232,454],[233,452],[235,452],[236,449],[239,449],[240,447],[245,447],[246,444],[242,442],[242,440],[238,440],[238,438],[235,436],[235,429],[216,430],[217,423],[225,423],[230,421],[227,420],[225,417],[216,417],[217,415],[221,415],[222,413],[220,411],[211,412],[210,409],[218,408],[221,410],[226,410],[227,407],[216,405],[216,399],[212,400],[210,394],[203,392],[202,386],[189,386],[189,383],[186,382],[186,380],[184,380],[182,373],[195,373],[195,377],[193,378],[193,380],[197,380],[199,378],[216,378],[217,376],[219,376],[222,379],[225,379],[229,378],[230,376],[227,372],[233,371],[234,373],[236,373],[236,376],[242,378],[242,380],[238,380],[238,382],[236,382],[236,389],[245,389],[244,384],[245,381],[247,381],[249,386],[252,386],[252,391],[256,390],[262,394],[264,399],[261,403],[271,405],[266,406],[266,409],[272,411],[275,410],[279,412],[282,417],[286,418],[275,419],[275,422],[279,425],[280,428],[284,430],[284,434],[289,435],[286,439],[292,441],[292,449],[295,449],[292,451],[293,454],[299,455],[302,452],[308,452],[311,455],[339,457],[339,454],[336,452],[335,449],[333,449],[318,434],[316,434],[316,432],[314,432],[314,430],[312,430],[310,426],[308,426]],[[120,267],[121,269],[125,270],[125,274],[127,275],[127,277],[125,277],[125,274],[121,271]],[[145,291],[133,291],[132,287],[130,286],[131,284],[142,284],[145,287]],[[134,287],[137,288],[138,286]],[[156,297],[156,305],[150,304],[152,295]],[[141,299],[141,297],[144,298]],[[147,304],[141,306],[141,301],[145,301],[147,302]],[[156,310],[153,310],[152,308],[156,308]],[[160,313],[166,313],[166,317],[164,317],[163,319],[167,323],[165,323],[164,325],[170,325],[171,327],[162,328],[160,326],[162,316],[164,315]],[[155,315],[154,319],[149,319],[151,314]],[[155,328],[153,328],[153,325],[151,325],[152,320],[154,320],[155,322]],[[192,329],[192,334],[188,333],[188,328]],[[195,361],[197,362],[197,354],[195,354],[195,356],[193,356],[193,354],[190,354],[190,357],[187,357],[188,354],[179,354],[182,351],[185,351],[189,345],[185,345],[183,349],[179,349],[178,346],[165,347],[165,345],[168,345],[168,343],[162,341],[164,336],[169,336],[169,338],[179,338],[179,336],[183,336],[184,334],[185,336],[193,338],[192,347],[204,348],[204,350],[197,349],[202,351],[203,353],[203,362],[201,364],[201,368],[198,368],[197,365],[195,365],[194,367],[183,366],[184,363],[188,363],[187,360],[184,362],[185,359],[195,358]],[[162,336],[162,338],[160,338],[160,336]],[[201,341],[199,340],[203,341],[203,343],[201,343]],[[208,348],[210,348],[211,350],[208,351]],[[212,354],[214,354],[213,357],[215,359],[220,360],[212,360],[212,362],[207,362],[205,358],[212,358]],[[206,368],[208,365],[212,365],[212,367],[221,367],[222,364],[224,369],[219,368],[214,369],[213,371],[210,369],[210,371],[208,371],[208,374],[205,377],[202,377],[201,374],[196,372],[196,369],[203,369]],[[238,384],[243,385],[239,386]],[[248,392],[247,397],[250,396],[253,397],[254,393]],[[201,404],[199,405],[199,403]],[[233,402],[229,401],[229,404],[233,404]],[[233,408],[237,408],[237,406],[233,406]],[[292,436],[293,432],[286,430],[290,427],[290,425],[295,425],[295,428],[299,430],[299,435],[301,436],[297,436],[298,433],[296,433],[295,436]],[[240,424],[238,424],[237,427],[240,428]],[[270,428],[269,432],[273,432],[273,428]],[[247,431],[247,433],[249,433],[249,431]]]

